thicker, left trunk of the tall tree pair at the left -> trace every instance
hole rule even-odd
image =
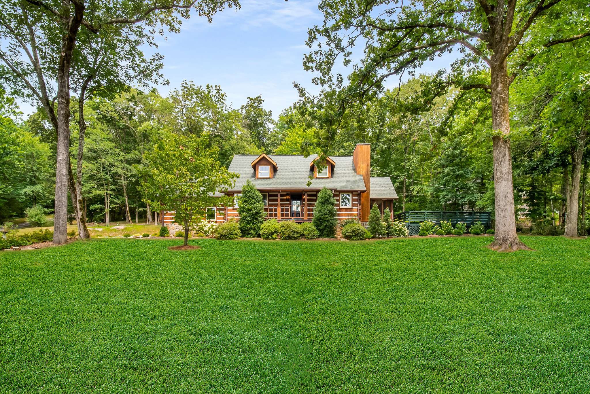
[[[55,212],[53,243],[60,245],[68,237],[68,169],[70,169],[70,66],[78,28],[82,23],[84,4],[74,3],[70,17],[69,4],[62,7],[63,35],[57,68],[57,155],[55,166]]]

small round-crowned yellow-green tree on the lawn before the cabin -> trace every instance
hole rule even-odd
[[[146,154],[140,190],[152,206],[175,211],[175,221],[188,233],[201,220],[208,206],[232,203],[231,196],[215,197],[235,185],[237,174],[218,161],[219,150],[209,147],[207,135],[168,134]]]

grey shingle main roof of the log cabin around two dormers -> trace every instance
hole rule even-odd
[[[229,170],[240,174],[240,178],[235,183],[233,191],[242,189],[242,186],[250,179],[258,189],[302,189],[313,188],[321,189],[326,186],[329,189],[365,191],[365,182],[362,175],[357,175],[355,165],[352,162],[352,156],[330,156],[336,165],[332,173],[332,178],[311,179],[312,184],[307,186],[313,176],[313,170],[310,170],[309,163],[317,157],[311,155],[268,155],[277,163],[277,170],[274,178],[256,178],[251,163],[257,155],[234,155],[231,160]]]

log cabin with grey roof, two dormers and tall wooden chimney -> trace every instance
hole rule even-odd
[[[207,220],[224,222],[238,218],[237,197],[250,179],[263,195],[267,219],[309,222],[317,193],[324,187],[332,189],[336,199],[338,220],[357,218],[368,221],[373,203],[381,213],[385,208],[394,212],[398,198],[389,177],[371,177],[371,145],[357,144],[352,156],[330,156],[326,166],[318,171],[317,155],[235,155],[229,170],[238,173],[233,189],[226,191],[236,198],[234,206],[207,209]],[[310,182],[310,185],[308,185]],[[165,224],[174,220],[174,212],[165,212]]]

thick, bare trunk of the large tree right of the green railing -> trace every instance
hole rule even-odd
[[[491,65],[491,117],[494,131],[494,198],[496,206],[496,234],[490,248],[497,251],[529,249],[516,235],[514,191],[512,183],[512,157],[510,156],[510,113],[508,88],[510,86],[506,60]]]

